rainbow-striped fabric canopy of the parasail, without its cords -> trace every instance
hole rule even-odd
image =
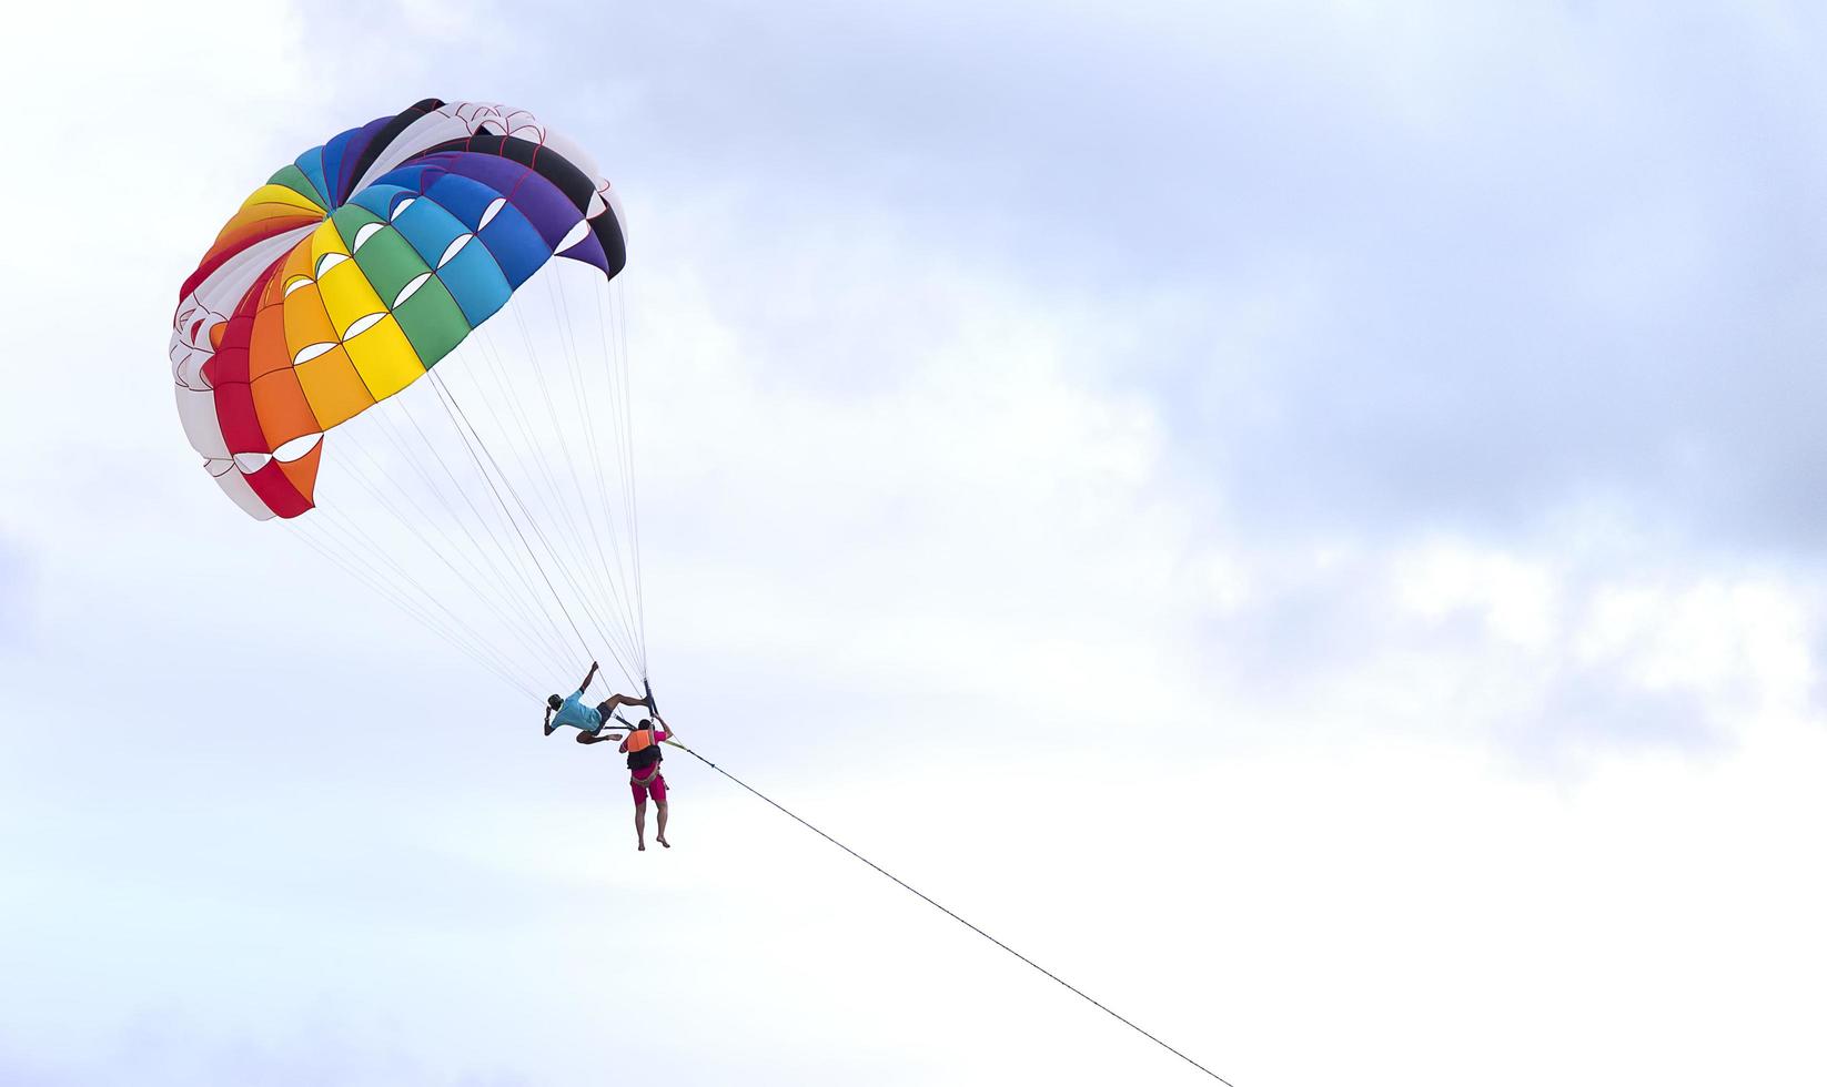
[[[311,148],[179,290],[190,444],[254,517],[303,513],[323,431],[413,384],[554,254],[616,276],[621,214],[524,110],[426,99]]]

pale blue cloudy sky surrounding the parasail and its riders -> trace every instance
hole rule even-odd
[[[649,661],[707,758],[1239,1087],[1820,1082],[1823,46],[15,16],[0,1082],[1209,1082],[692,760],[638,853],[612,751],[197,470],[177,285],[424,97],[621,192]]]

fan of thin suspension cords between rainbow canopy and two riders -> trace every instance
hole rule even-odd
[[[636,689],[647,680],[623,338],[601,276],[577,283],[592,292],[597,334],[570,325],[592,307],[570,300],[570,263],[548,265],[544,303],[528,290],[504,307],[512,322],[473,329],[457,369],[446,362],[340,431],[336,486],[369,519],[334,502],[305,519],[307,546],[523,694],[528,676],[579,650],[597,656],[592,647]],[[504,351],[497,323],[515,325],[521,343]],[[597,349],[601,364],[586,358]],[[566,433],[577,426],[583,435]],[[491,499],[473,493],[477,477]]]

